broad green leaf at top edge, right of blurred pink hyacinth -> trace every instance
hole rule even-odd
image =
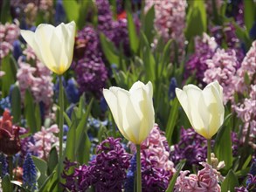
[[[187,14],[186,38],[190,40],[197,35],[202,35],[207,29],[206,21],[204,1],[194,0]]]

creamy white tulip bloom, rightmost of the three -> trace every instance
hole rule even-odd
[[[176,88],[176,97],[197,134],[211,139],[222,125],[225,113],[223,88],[218,81],[212,82],[204,90],[194,85],[183,86],[183,90]]]

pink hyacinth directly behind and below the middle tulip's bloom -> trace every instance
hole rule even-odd
[[[135,153],[135,144],[131,144],[131,151]],[[176,172],[174,163],[170,161],[170,148],[166,137],[156,124],[149,136],[141,144],[142,161],[149,158],[153,162],[154,168],[161,168],[170,171],[171,175]],[[150,154],[150,155],[148,155]]]

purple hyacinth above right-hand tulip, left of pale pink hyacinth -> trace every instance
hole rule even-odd
[[[185,65],[185,79],[195,73],[195,78],[199,84],[205,85],[204,72],[207,69],[206,60],[212,58],[218,45],[214,38],[209,37],[206,33],[202,37],[195,38],[195,52],[190,56]]]

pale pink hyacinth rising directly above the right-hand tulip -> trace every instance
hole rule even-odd
[[[235,51],[225,51],[218,49],[211,59],[206,60],[208,69],[204,72],[204,82],[209,84],[214,80],[223,87],[225,104],[233,99],[234,85],[232,78],[236,74],[238,65]]]

